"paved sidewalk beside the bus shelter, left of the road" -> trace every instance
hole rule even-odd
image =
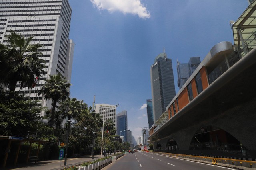
[[[92,159],[91,155],[80,156],[79,158],[68,158],[67,165],[64,166],[64,159],[61,160],[47,160],[47,161],[38,161],[37,163],[29,164],[17,164],[17,166],[7,166],[4,170],[63,170],[70,166],[76,166],[82,164],[83,162],[90,162],[92,160],[97,160],[100,158],[100,155],[94,155]],[[1,168],[0,168],[1,169]]]

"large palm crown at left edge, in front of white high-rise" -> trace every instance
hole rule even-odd
[[[43,45],[30,44],[33,37],[25,39],[24,36],[12,30],[6,37],[8,45],[0,46],[0,53],[4,53],[0,63],[5,64],[0,70],[2,82],[8,84],[10,92],[15,90],[17,82],[20,82],[20,88],[32,88],[34,79],[39,78],[45,68],[43,64],[45,61],[39,58],[42,53],[38,52]]]

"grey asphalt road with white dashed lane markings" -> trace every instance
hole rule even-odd
[[[103,170],[234,170],[152,153],[126,154]]]

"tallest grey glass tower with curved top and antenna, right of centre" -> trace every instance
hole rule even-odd
[[[166,107],[176,95],[172,59],[165,53],[156,56],[150,68],[154,122],[166,111]]]

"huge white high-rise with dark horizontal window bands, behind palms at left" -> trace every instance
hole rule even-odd
[[[71,79],[74,42],[68,39],[72,12],[68,0],[0,0],[0,7],[0,43],[7,44],[4,37],[14,30],[26,39],[34,36],[32,43],[44,45],[39,51],[46,64],[36,87],[20,89],[17,84],[15,90],[51,109],[52,100],[43,100],[37,93],[49,75],[60,73]]]

